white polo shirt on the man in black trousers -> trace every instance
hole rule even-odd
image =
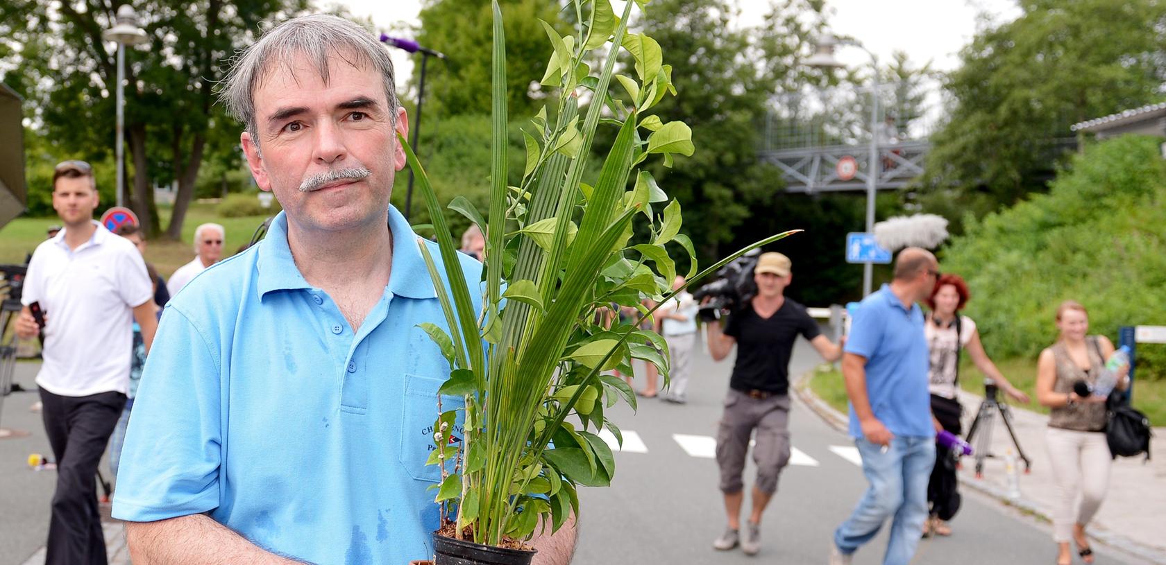
[[[133,309],[154,296],[138,248],[93,224],[77,249],[64,229],[37,246],[24,277],[21,302],[40,302],[48,322],[36,384],[61,396],[128,390]]]

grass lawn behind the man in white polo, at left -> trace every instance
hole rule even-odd
[[[226,242],[223,245],[223,255],[231,256],[239,246],[251,241],[255,228],[264,221],[265,216],[253,216],[244,218],[224,218],[216,211],[217,204],[192,203],[187,211],[187,219],[182,224],[182,241],[152,240],[146,246],[146,260],[154,263],[154,267],[163,276],[169,278],[178,267],[190,262],[195,257],[194,236],[195,228],[199,224],[212,221],[222,224],[226,229]],[[160,207],[160,223],[162,228],[170,221],[170,209]],[[58,225],[57,218],[16,218],[0,229],[0,263],[23,263],[24,257],[33,253],[33,249],[44,241],[44,232],[51,225]]]

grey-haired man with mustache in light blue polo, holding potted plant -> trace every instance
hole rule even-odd
[[[407,132],[393,85],[384,47],[330,15],[273,28],[225,82],[283,212],[162,317],[113,509],[135,564],[433,555],[426,459],[450,367],[417,327],[445,327],[419,245],[438,249],[389,206]],[[482,263],[459,260],[477,285]],[[566,564],[574,536],[536,539],[541,563]]]

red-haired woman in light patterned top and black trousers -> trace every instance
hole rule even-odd
[[[968,292],[968,283],[963,278],[958,275],[942,275],[935,283],[932,297],[927,301],[930,313],[927,315],[925,333],[930,348],[929,377],[935,431],[943,429],[955,435],[962,432],[960,415],[963,412],[963,407],[960,405],[957,395],[961,349],[967,349],[972,362],[986,377],[985,383],[996,384],[1019,402],[1028,402],[1028,396],[1013,387],[984,353],[984,346],[979,342],[979,332],[976,331],[976,323],[958,313],[968,304],[969,298],[971,295]],[[957,486],[956,457],[949,450],[936,444],[935,467],[932,469],[932,479],[927,485],[927,502],[930,507],[930,515],[923,522],[925,536],[932,534],[951,535],[951,528],[947,521],[951,520],[960,509],[961,497]]]

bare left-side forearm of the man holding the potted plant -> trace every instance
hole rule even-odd
[[[126,545],[135,565],[290,565],[202,514],[157,522],[126,522]],[[566,562],[563,562],[566,563]]]

